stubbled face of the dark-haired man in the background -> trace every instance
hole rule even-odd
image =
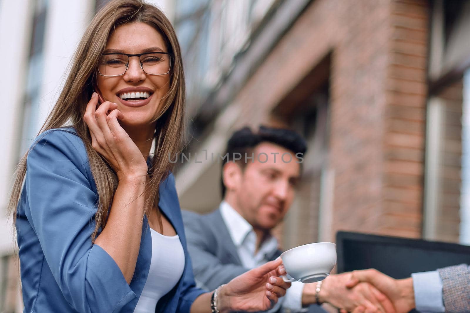
[[[284,161],[283,153],[287,153]],[[255,147],[254,161],[247,160],[234,190],[239,212],[253,228],[270,230],[284,218],[300,176],[297,161],[295,153],[282,146],[261,143]]]

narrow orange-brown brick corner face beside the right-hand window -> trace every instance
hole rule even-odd
[[[428,2],[392,3],[384,115],[382,233],[421,237]]]

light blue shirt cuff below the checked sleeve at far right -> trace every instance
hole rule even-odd
[[[416,310],[425,313],[445,312],[442,282],[438,271],[413,273]]]

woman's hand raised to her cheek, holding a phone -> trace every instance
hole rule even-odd
[[[147,175],[147,163],[131,137],[118,120],[124,115],[116,103],[105,101],[99,107],[98,95],[93,93],[86,105],[83,120],[90,129],[92,146],[110,164],[118,179]]]

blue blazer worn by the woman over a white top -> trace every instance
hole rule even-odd
[[[180,205],[170,175],[159,208],[180,237],[186,258],[178,284],[155,312],[187,313],[195,287]],[[16,214],[24,312],[133,312],[149,273],[152,237],[144,217],[130,284],[116,262],[91,243],[98,192],[85,145],[73,128],[48,130],[33,143]],[[100,230],[101,231],[101,230]]]

